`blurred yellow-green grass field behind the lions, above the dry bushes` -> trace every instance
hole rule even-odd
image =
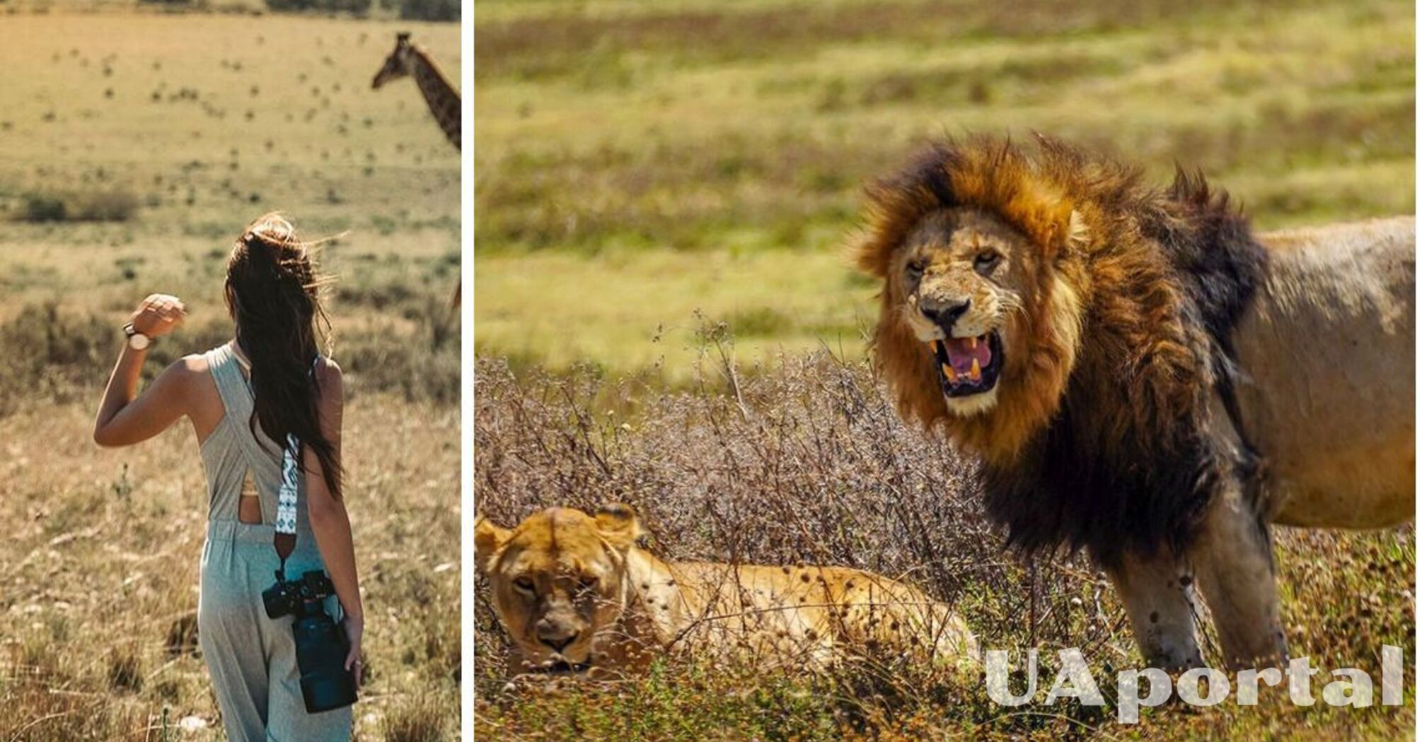
[[[684,380],[694,310],[776,317],[749,358],[857,348],[860,188],[943,134],[1199,166],[1263,229],[1413,205],[1404,1],[481,1],[475,34],[488,355]]]

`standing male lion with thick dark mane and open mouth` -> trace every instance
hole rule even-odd
[[[1142,655],[1287,657],[1268,525],[1412,517],[1413,219],[1256,235],[1227,196],[1038,136],[869,189],[859,266],[900,414],[983,459],[1025,553],[1086,549]]]

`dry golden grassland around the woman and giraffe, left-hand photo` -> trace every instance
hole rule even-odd
[[[90,431],[144,296],[189,307],[149,375],[230,337],[226,254],[267,210],[343,235],[321,262],[367,607],[357,736],[456,736],[459,156],[412,82],[370,82],[397,30],[458,80],[458,26],[54,11],[0,28],[0,739],[223,738],[193,637],[193,435],[101,451]]]

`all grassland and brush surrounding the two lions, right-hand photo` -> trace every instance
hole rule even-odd
[[[886,404],[863,353],[876,287],[843,250],[867,179],[970,131],[1057,134],[1160,181],[1202,168],[1263,229],[1412,213],[1411,3],[481,0],[475,38],[476,510],[623,500],[664,557],[904,574],[985,647],[1042,650],[1038,698],[1059,647],[1108,695],[1003,708],[873,662],[506,685],[479,580],[478,732],[1412,736],[1411,684],[1402,708],[1276,692],[1116,725],[1105,687],[1140,660],[1115,593],[1082,559],[1000,550],[973,462]],[[1274,537],[1293,654],[1375,678],[1384,644],[1412,655],[1412,527]]]

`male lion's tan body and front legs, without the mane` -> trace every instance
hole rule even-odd
[[[1234,331],[1244,434],[1267,523],[1369,529],[1413,517],[1415,220],[1263,233],[1268,271]],[[1221,445],[1237,434],[1214,407]],[[1197,579],[1227,661],[1287,654],[1273,556],[1237,490],[1185,559],[1112,573],[1148,660],[1197,665]],[[1182,584],[1186,583],[1186,584]]]

